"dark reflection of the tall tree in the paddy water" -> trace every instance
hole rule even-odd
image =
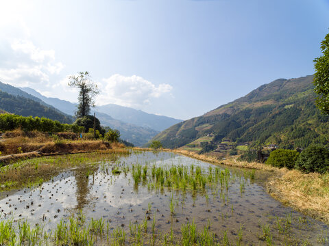
[[[77,209],[82,209],[89,202],[87,199],[88,193],[90,191],[89,177],[93,176],[97,171],[98,167],[95,165],[90,165],[88,167],[82,167],[74,170],[76,191],[75,196],[77,197]]]

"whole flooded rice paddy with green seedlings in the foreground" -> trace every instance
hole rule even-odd
[[[171,152],[22,161],[1,169],[0,245],[328,245],[268,175]]]

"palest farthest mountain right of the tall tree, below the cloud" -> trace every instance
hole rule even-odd
[[[97,106],[97,111],[111,115],[114,119],[121,120],[137,126],[151,128],[156,131],[163,131],[164,129],[182,122],[162,115],[155,115],[152,113],[145,113],[141,110],[132,109],[130,107],[123,107],[114,104]]]

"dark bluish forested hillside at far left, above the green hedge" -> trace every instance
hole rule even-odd
[[[36,102],[35,100],[23,96],[13,96],[0,90],[0,109],[9,113],[22,116],[38,116],[51,120],[58,120],[61,123],[72,123],[72,118],[58,110]]]

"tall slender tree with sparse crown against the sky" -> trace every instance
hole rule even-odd
[[[79,72],[69,77],[69,86],[80,90],[79,105],[77,105],[77,118],[82,118],[90,113],[90,107],[95,107],[95,96],[99,94],[97,85],[91,80],[89,72]]]

